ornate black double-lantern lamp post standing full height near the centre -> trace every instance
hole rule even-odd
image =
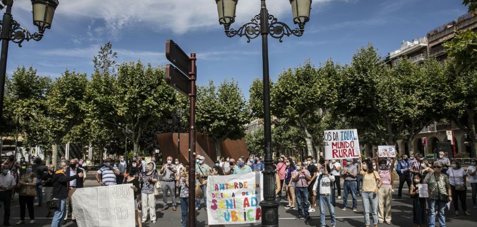
[[[263,109],[264,109],[264,130],[265,130],[265,170],[263,173],[264,201],[260,203],[262,207],[262,226],[278,226],[278,202],[275,202],[275,170],[273,169],[271,150],[271,123],[270,123],[270,76],[268,60],[268,36],[277,38],[282,42],[282,38],[290,35],[302,36],[305,23],[310,19],[312,0],[290,0],[293,13],[293,22],[298,24],[298,28],[290,29],[288,25],[278,21],[270,15],[265,4],[261,0],[260,14],[254,16],[248,23],[240,26],[239,29],[231,29],[230,25],[235,21],[235,12],[239,0],[216,0],[217,11],[219,13],[219,23],[223,24],[225,34],[228,37],[239,35],[245,36],[250,43],[251,39],[262,36],[262,61],[263,61]]]

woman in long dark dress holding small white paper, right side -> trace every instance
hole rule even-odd
[[[409,194],[413,198],[413,223],[416,227],[427,225],[426,198],[419,196],[419,184],[421,179],[420,174],[414,174],[413,184],[411,185],[411,190],[409,190]]]

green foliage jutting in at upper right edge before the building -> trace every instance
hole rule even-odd
[[[474,2],[473,4],[477,4]],[[453,59],[458,71],[477,69],[477,32],[456,32],[454,39],[444,44],[445,52]]]

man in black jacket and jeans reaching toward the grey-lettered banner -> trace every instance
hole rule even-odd
[[[65,171],[68,168],[68,162],[61,161],[58,164],[58,171],[51,179],[53,182],[53,198],[60,199],[60,206],[55,210],[51,227],[61,227],[61,223],[66,215],[66,198],[68,197],[68,182],[83,177],[83,173],[74,176],[66,176]],[[114,181],[116,182],[116,181]]]

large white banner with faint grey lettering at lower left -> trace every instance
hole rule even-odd
[[[78,227],[134,227],[132,184],[78,188],[71,197]]]

